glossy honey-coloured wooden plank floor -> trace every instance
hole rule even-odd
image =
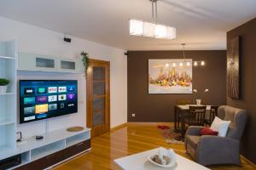
[[[77,156],[55,167],[55,169],[119,169],[113,162],[114,159],[144,150],[151,150],[159,146],[172,148],[177,154],[191,159],[185,154],[183,144],[166,144],[156,125],[156,123],[129,123],[127,127],[102,134],[92,139],[92,149],[88,153]],[[244,160],[242,160],[242,167],[215,166],[209,168],[213,170],[255,169]]]

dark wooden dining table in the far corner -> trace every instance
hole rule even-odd
[[[189,106],[207,106],[207,113],[211,110],[211,105],[174,105],[174,130],[180,132],[182,138],[186,133],[184,116],[189,112]],[[180,128],[177,126],[178,122],[181,122]]]

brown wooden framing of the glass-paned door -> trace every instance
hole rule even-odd
[[[95,137],[97,133],[93,131],[93,120],[92,120],[92,111],[93,111],[93,99],[90,98],[90,95],[93,95],[93,70],[91,66],[104,66],[106,67],[105,72],[105,90],[106,90],[106,98],[105,98],[105,130],[104,133],[109,132],[110,130],[110,62],[99,60],[99,59],[89,59],[89,68],[87,70],[87,78],[86,78],[86,125],[91,128],[91,137]],[[106,117],[107,116],[107,117]],[[98,125],[101,126],[101,125]],[[98,127],[96,126],[96,127]]]

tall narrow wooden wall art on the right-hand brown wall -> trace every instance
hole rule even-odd
[[[232,99],[240,98],[239,37],[231,38],[227,47],[227,90]]]

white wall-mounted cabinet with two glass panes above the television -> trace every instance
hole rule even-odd
[[[19,53],[20,71],[54,71],[68,73],[83,73],[81,59],[66,59],[40,54]]]

